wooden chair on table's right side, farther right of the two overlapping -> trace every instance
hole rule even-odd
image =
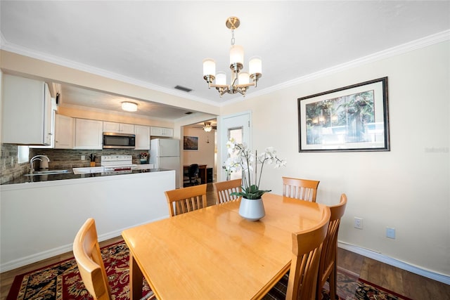
[[[347,195],[340,195],[340,202],[330,208],[330,223],[328,233],[323,241],[321,259],[319,263],[319,277],[317,278],[316,299],[321,300],[322,287],[329,278],[330,299],[336,296],[336,254],[338,252],[338,231],[340,219],[344,215],[347,205]]]

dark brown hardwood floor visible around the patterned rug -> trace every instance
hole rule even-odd
[[[214,205],[216,195],[212,183],[207,186],[207,204]],[[100,243],[101,247],[122,240],[115,237]],[[28,266],[10,270],[0,274],[0,300],[5,300],[16,275],[27,273],[72,257],[72,252],[45,259]],[[416,300],[450,299],[450,285],[430,280],[420,275],[401,270],[385,263],[338,248],[338,268],[344,268],[357,277],[372,282],[380,287]]]

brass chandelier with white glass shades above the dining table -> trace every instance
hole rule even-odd
[[[244,48],[234,44],[234,30],[239,27],[240,21],[236,17],[230,17],[226,19],[225,25],[231,30],[231,84],[226,84],[225,72],[216,73],[216,62],[212,58],[203,60],[203,79],[206,80],[208,89],[216,88],[220,96],[223,96],[224,93],[240,93],[245,97],[248,87],[257,87],[257,81],[262,76],[262,61],[259,57],[252,57],[249,61],[249,71],[240,72],[244,65]],[[250,82],[250,78],[252,82]],[[214,79],[215,83],[213,84]]]

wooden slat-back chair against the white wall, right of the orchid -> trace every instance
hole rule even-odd
[[[283,177],[283,196],[316,202],[320,181]]]

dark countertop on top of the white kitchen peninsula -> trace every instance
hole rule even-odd
[[[117,176],[117,175],[122,175],[122,174],[141,174],[141,173],[160,172],[160,171],[169,171],[169,170],[168,169],[141,169],[141,170],[112,171],[112,172],[103,172],[103,173],[88,173],[88,174],[73,174],[72,172],[70,172],[70,173],[63,173],[63,174],[48,174],[48,175],[35,175],[35,176],[23,175],[23,176],[13,179],[12,181],[2,183],[1,185],[9,185],[9,184],[16,184],[16,183],[45,182],[45,181],[60,181],[60,180],[66,180],[66,179],[89,178],[89,177]]]

